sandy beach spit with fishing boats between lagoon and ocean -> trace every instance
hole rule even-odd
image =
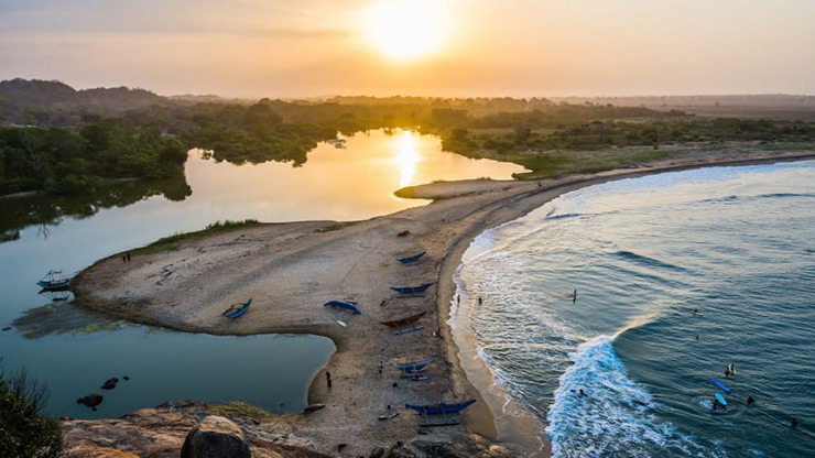
[[[460,444],[461,449],[474,447],[487,456],[545,456],[548,451],[537,449],[537,438],[523,440],[526,430],[537,430],[536,421],[530,418],[531,425],[521,434],[497,421],[495,400],[481,396],[482,385],[491,384],[489,372],[481,363],[476,369],[480,375],[468,377],[446,325],[455,294],[453,272],[470,241],[563,193],[597,183],[660,171],[814,156],[812,152],[699,154],[543,182],[434,183],[409,193],[433,199],[433,204],[365,221],[268,223],[188,239],[172,251],[134,251],[130,262],[113,255],[77,275],[73,291],[79,305],[183,331],[307,332],[334,340],[337,352],[316,375],[308,394],[311,404],[325,407],[259,426],[271,429],[284,425],[290,430],[287,444],[334,456],[367,456],[373,447],[421,438]],[[426,254],[415,263],[396,261],[423,251]],[[390,290],[425,283],[433,285],[423,294]],[[235,320],[221,316],[231,304],[250,297],[252,306],[244,316]],[[362,314],[340,314],[323,306],[332,299],[354,302]],[[426,312],[415,323],[421,328],[410,332],[394,334],[380,323],[420,312]],[[427,358],[434,359],[427,380],[402,379],[393,367]],[[382,374],[378,371],[380,361]],[[330,372],[330,389],[326,372]],[[479,402],[465,411],[460,425],[420,427],[420,416],[404,408],[405,403],[469,399]],[[380,421],[388,405],[399,416]],[[490,450],[474,435],[511,451],[500,447]],[[347,444],[341,452],[339,444]]]

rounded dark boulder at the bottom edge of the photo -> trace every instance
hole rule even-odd
[[[222,416],[209,415],[193,427],[181,448],[182,458],[251,458],[240,427]]]

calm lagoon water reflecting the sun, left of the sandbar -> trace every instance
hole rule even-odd
[[[7,372],[25,367],[47,384],[46,413],[55,416],[117,416],[175,399],[240,399],[300,411],[308,383],[335,350],[327,338],[216,337],[119,323],[52,302],[37,294],[35,282],[51,269],[73,275],[100,258],[217,220],[363,219],[424,205],[394,197],[402,186],[506,179],[522,171],[443,152],[435,137],[373,131],[347,138],[345,149],[320,144],[302,167],[215,163],[192,151],[192,194],[183,183],[157,192],[126,184],[90,203],[0,199],[3,230],[19,231],[18,239],[0,243],[0,327],[25,321],[0,332],[0,358]],[[172,200],[160,194],[164,188]],[[118,388],[99,390],[111,377],[120,379]],[[105,395],[98,412],[75,403],[93,392]]]

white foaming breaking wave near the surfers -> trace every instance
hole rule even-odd
[[[553,456],[716,456],[658,419],[651,394],[628,378],[611,337],[582,344],[569,359],[547,415]]]

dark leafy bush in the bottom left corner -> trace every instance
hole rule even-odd
[[[57,457],[62,451],[59,426],[40,415],[47,391],[25,370],[7,379],[0,371],[0,458]]]

